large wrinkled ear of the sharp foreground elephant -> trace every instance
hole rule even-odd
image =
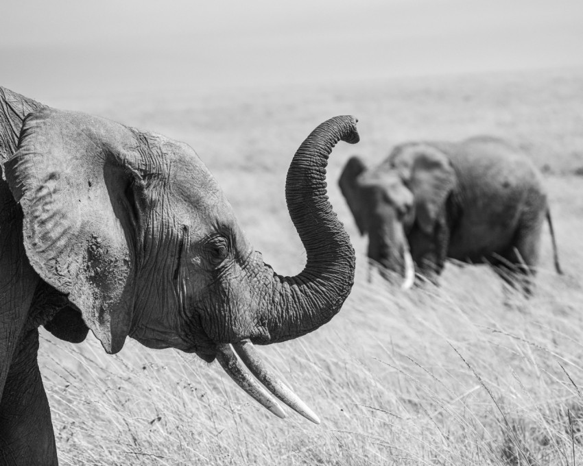
[[[123,347],[132,321],[136,147],[122,125],[45,108],[27,115],[5,164],[32,267],[67,294],[108,353]]]

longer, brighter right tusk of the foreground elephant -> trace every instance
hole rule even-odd
[[[309,421],[312,421],[314,424],[320,424],[320,419],[316,413],[265,366],[253,343],[249,340],[239,341],[239,343],[233,343],[233,349],[239,354],[241,360],[243,360],[243,363],[245,363],[251,373],[271,393]]]

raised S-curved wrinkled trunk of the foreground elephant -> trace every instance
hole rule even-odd
[[[272,299],[259,310],[268,338],[276,343],[307,334],[341,308],[354,281],[355,254],[344,225],[326,196],[326,165],[339,140],[357,143],[357,120],[337,116],[313,130],[287,172],[285,197],[292,221],[306,249],[305,269],[295,277],[273,275]]]

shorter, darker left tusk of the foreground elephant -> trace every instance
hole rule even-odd
[[[237,356],[231,349],[228,343],[219,343],[217,345],[219,352],[217,353],[217,360],[228,376],[235,380],[235,383],[241,387],[254,400],[262,404],[265,408],[270,410],[277,417],[285,418],[285,412],[279,406],[274,397],[267,393],[257,380],[252,378],[245,370]]]

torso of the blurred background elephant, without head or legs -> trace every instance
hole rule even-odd
[[[462,212],[449,255],[479,262],[503,254],[525,215],[546,210],[542,175],[523,152],[497,138],[471,138],[449,149]]]

